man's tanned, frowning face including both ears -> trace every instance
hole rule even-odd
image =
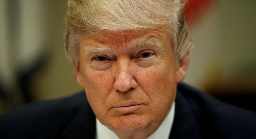
[[[189,52],[186,59],[176,60],[166,30],[102,31],[80,39],[79,62],[73,64],[77,82],[85,88],[99,121],[121,139],[153,134],[170,111],[177,83],[186,75]],[[155,38],[158,47],[134,46],[138,38]],[[103,51],[91,51],[93,47]],[[139,105],[123,106],[134,103]]]

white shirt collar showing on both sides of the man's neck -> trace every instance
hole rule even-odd
[[[168,139],[171,132],[172,123],[174,120],[175,102],[173,102],[171,110],[166,116],[163,123],[157,128],[157,130],[150,135],[147,139]],[[105,125],[101,124],[96,118],[96,139],[119,139],[118,136],[108,129]]]

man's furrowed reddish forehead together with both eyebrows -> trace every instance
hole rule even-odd
[[[161,42],[161,38],[167,35],[166,27],[157,27],[149,30],[124,30],[118,32],[101,31],[98,34],[84,37],[92,42],[90,45],[85,45],[85,55],[91,53],[103,53],[111,51],[112,46],[125,44],[126,48],[154,47],[162,49],[165,42]],[[107,46],[107,47],[106,47]]]

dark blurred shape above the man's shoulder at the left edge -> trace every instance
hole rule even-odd
[[[43,68],[46,58],[39,56],[34,63],[26,70],[18,70],[16,77],[15,89],[7,89],[3,83],[0,83],[0,97],[3,101],[3,112],[9,111],[17,106],[33,102],[33,80],[32,77],[36,72]],[[14,92],[15,91],[15,92]],[[0,111],[1,114],[1,111]]]

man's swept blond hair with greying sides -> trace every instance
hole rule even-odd
[[[143,30],[167,25],[175,55],[192,47],[180,0],[69,0],[64,45],[67,58],[78,60],[79,37],[99,31]]]

